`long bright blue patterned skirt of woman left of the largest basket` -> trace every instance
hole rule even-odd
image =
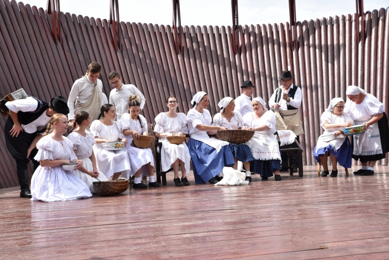
[[[221,173],[223,167],[231,167],[235,164],[229,145],[223,146],[217,153],[212,146],[191,138],[188,142],[188,149],[197,184],[206,183]]]

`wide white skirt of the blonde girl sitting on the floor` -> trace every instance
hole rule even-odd
[[[31,179],[31,200],[43,202],[90,198],[88,186],[72,171],[39,166]]]

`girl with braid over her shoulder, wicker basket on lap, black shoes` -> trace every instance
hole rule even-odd
[[[150,148],[140,149],[131,146],[133,139],[138,139],[140,135],[148,136],[146,119],[140,115],[141,98],[137,95],[132,95],[128,98],[129,114],[123,114],[120,122],[123,126],[123,132],[128,143],[125,145],[128,158],[131,163],[130,175],[135,175],[134,189],[146,189],[147,186],[141,183],[142,176],[149,177],[149,187],[159,187],[159,184],[154,180],[154,157]],[[142,172],[143,171],[143,172]]]

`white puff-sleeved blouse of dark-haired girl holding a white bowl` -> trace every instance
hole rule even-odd
[[[124,138],[122,125],[117,121],[112,122],[112,125],[105,125],[100,120],[95,120],[90,125],[90,132],[94,137],[108,139],[111,142]]]

